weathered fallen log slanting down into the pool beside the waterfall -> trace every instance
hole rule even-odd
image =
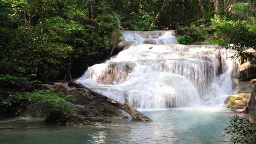
[[[111,105],[117,107],[118,109],[124,110],[126,113],[128,113],[129,115],[131,115],[131,117],[133,119],[139,120],[139,121],[143,121],[143,122],[152,122],[151,119],[145,115],[143,115],[142,113],[140,113],[137,109],[135,109],[129,102],[126,102],[123,104],[121,102],[118,102],[114,99],[110,99],[108,97],[106,97],[105,95],[102,95],[98,92],[95,92],[91,89],[89,89],[88,87],[80,84],[80,83],[76,83],[76,81],[71,81],[68,83],[68,86],[73,86],[76,88],[83,88],[83,89],[87,89],[90,94],[92,94],[94,97],[98,98],[98,99],[103,99],[106,100],[108,102],[111,103]]]

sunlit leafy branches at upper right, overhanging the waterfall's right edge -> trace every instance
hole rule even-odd
[[[212,28],[215,29],[216,37],[226,42],[222,43],[223,46],[237,51],[233,58],[255,63],[255,55],[245,50],[256,50],[256,14],[244,3],[238,3],[234,7],[233,12],[224,17],[215,16],[212,19]]]

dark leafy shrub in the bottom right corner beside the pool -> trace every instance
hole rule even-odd
[[[256,143],[256,131],[254,125],[244,117],[234,116],[230,120],[230,125],[224,130],[231,135],[234,143]]]

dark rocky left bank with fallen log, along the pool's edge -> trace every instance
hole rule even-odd
[[[46,124],[64,124],[67,126],[121,124],[116,120],[129,118],[125,115],[125,112],[137,121],[151,122],[150,118],[133,108],[130,103],[120,103],[105,95],[94,92],[82,84],[76,84],[74,81],[69,83],[55,83],[54,85],[41,84],[37,86],[37,89],[51,90],[53,93],[71,96],[71,99],[66,101],[66,103],[74,108],[72,114],[67,115],[62,114],[60,111],[52,111],[49,116],[39,118]],[[29,104],[20,117],[2,117],[2,122],[29,122],[31,119],[38,119],[35,109],[37,108],[33,103]]]

